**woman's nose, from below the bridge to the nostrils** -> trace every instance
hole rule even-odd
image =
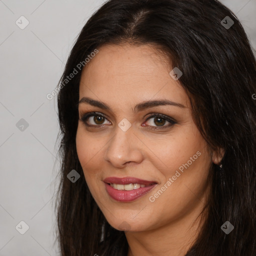
[[[121,130],[118,126],[114,136],[106,145],[104,159],[117,168],[123,168],[127,163],[140,163],[143,160],[142,142],[133,133],[132,126]]]

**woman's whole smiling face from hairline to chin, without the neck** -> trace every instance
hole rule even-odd
[[[149,45],[98,50],[82,71],[76,134],[93,198],[119,230],[197,216],[214,159],[168,59]]]

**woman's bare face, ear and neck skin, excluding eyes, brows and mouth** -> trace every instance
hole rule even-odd
[[[209,192],[210,165],[221,156],[212,152],[197,129],[187,94],[169,75],[172,68],[166,56],[146,44],[103,45],[98,50],[82,71],[79,99],[102,101],[112,111],[85,102],[78,106],[79,118],[91,111],[106,116],[89,117],[87,123],[93,127],[78,120],[76,149],[89,190],[109,224],[125,231],[128,256],[184,255],[203,220],[198,215]],[[136,104],[156,99],[184,107],[159,105],[132,111]],[[177,123],[146,120],[150,113],[167,115]],[[131,124],[127,131],[118,126],[123,118]],[[153,129],[159,126],[165,128]],[[197,151],[200,156],[151,202],[149,196]],[[157,185],[134,201],[119,202],[106,192],[102,180],[109,176],[133,176]]]

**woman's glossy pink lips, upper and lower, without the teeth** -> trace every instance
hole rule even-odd
[[[157,185],[155,181],[149,181],[144,179],[139,179],[135,177],[108,177],[103,180],[105,182],[106,191],[108,192],[109,196],[117,201],[128,202],[133,201],[142,195],[149,192],[153,187]],[[140,187],[133,190],[117,190],[109,185],[109,183],[115,184],[130,184],[130,183],[137,183],[137,184],[144,184],[145,187]],[[151,184],[151,185],[150,185]]]

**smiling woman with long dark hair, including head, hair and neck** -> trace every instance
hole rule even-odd
[[[61,255],[256,255],[256,62],[216,0],[109,0],[60,79]]]

